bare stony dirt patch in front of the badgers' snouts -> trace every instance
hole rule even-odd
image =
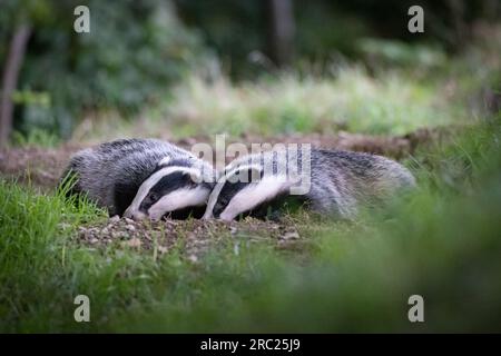
[[[302,237],[294,225],[252,218],[232,222],[195,219],[135,221],[117,216],[97,226],[79,227],[78,241],[99,248],[130,248],[153,254],[154,258],[176,248],[196,263],[210,246],[224,241],[232,243],[234,253],[238,254],[242,241],[268,241],[278,248],[292,248],[301,244]]]

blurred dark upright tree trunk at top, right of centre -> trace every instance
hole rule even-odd
[[[267,0],[268,52],[278,67],[291,65],[294,55],[294,13],[292,0]]]

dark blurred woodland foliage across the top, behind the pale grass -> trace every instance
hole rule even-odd
[[[406,11],[416,3],[425,11],[425,32],[411,34]],[[79,4],[90,8],[89,34],[72,30]],[[366,41],[373,38],[455,53],[474,23],[497,21],[500,11],[497,0],[4,0],[0,65],[6,68],[16,29],[28,24],[32,32],[12,96],[14,130],[69,137],[88,111],[132,117],[206,59],[216,57],[234,79],[248,79],[284,66],[364,60],[381,50],[380,42]],[[403,51],[412,65],[412,48]]]

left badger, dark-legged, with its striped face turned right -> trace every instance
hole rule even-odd
[[[119,139],[84,149],[70,159],[61,184],[86,195],[110,216],[160,219],[200,217],[214,186],[213,167],[157,139]]]

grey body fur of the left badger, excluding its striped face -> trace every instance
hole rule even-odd
[[[122,215],[145,179],[158,164],[169,158],[169,165],[200,168],[210,176],[210,165],[189,151],[157,139],[120,139],[84,149],[72,156],[63,178],[76,175],[70,194],[86,194],[110,216]]]

